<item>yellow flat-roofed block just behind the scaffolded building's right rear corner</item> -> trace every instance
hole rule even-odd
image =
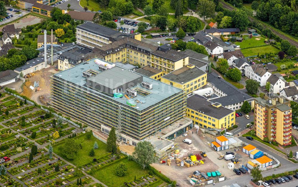
[[[161,81],[183,89],[188,94],[201,89],[207,84],[207,73],[193,64],[188,64],[162,76]]]

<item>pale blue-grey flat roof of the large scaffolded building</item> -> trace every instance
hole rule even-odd
[[[99,70],[98,63],[105,64],[106,66],[109,66],[111,68],[105,71],[101,71]],[[135,97],[132,97],[131,95],[127,95],[127,96],[134,101],[136,100],[142,101],[142,102],[137,102],[136,107],[131,107],[131,109],[136,109],[139,111],[147,109],[148,107],[154,104],[157,104],[179,92],[183,92],[179,88],[170,86],[160,81],[156,81],[146,76],[142,76],[141,74],[133,72],[131,70],[127,70],[117,66],[116,67],[112,67],[112,66],[115,66],[115,65],[109,62],[106,62],[102,59],[96,58],[96,59],[91,59],[82,64],[79,64],[68,70],[64,70],[59,73],[56,73],[55,75],[53,75],[53,77],[58,79],[63,79],[64,81],[75,84],[78,87],[83,87],[84,89],[86,89],[87,92],[91,92],[93,94],[97,94],[103,97],[108,97],[109,99],[112,99],[115,102],[121,103],[122,105],[129,106],[126,102],[127,99],[125,97],[122,97],[122,98],[111,97],[111,92],[110,92],[111,90],[107,91],[107,89],[105,89],[105,92],[103,91],[100,92],[98,90],[101,90],[101,89],[98,89],[98,87],[90,84],[91,81],[93,81],[93,83],[100,83],[100,84],[104,83],[107,85],[108,88],[115,88],[115,86],[118,86],[116,85],[116,83],[120,82],[121,85],[125,85],[125,89],[129,88],[137,92],[137,95]],[[82,76],[83,72],[88,73],[90,71],[93,71],[95,73],[91,73],[90,77],[88,78]],[[99,73],[96,74],[96,72],[99,72]],[[142,78],[142,81],[138,80],[141,78]],[[91,81],[89,81],[88,83],[88,80],[91,80]],[[134,82],[134,81],[135,83],[132,85],[131,82]],[[152,84],[152,89],[147,89],[143,87],[142,82],[147,82],[148,84]],[[117,90],[117,92],[118,91],[119,90]],[[123,95],[127,94],[124,91],[125,90],[122,89],[120,90],[120,93],[122,93]],[[114,92],[112,91],[112,93]]]

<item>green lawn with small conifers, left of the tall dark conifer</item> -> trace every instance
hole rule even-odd
[[[83,147],[82,149],[79,150],[75,159],[69,160],[61,154],[60,147],[62,147],[64,143],[54,145],[53,146],[54,153],[58,154],[59,156],[69,161],[70,163],[75,164],[76,166],[85,165],[93,161],[93,158],[99,158],[101,155],[105,155],[108,153],[106,149],[106,144],[96,139],[94,136],[91,136],[90,139],[86,139],[86,134],[83,134],[81,136],[75,137],[75,140],[76,142],[80,143]],[[93,144],[95,141],[97,141],[98,149],[94,150],[95,156],[91,157],[89,156],[89,152],[91,148],[93,148]]]

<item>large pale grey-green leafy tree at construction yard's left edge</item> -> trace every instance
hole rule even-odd
[[[149,141],[142,141],[136,144],[132,155],[134,156],[136,162],[143,166],[143,169],[145,169],[145,166],[148,166],[158,160],[154,147]]]

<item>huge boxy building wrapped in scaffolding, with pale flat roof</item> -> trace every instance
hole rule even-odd
[[[185,115],[183,90],[102,59],[56,73],[51,84],[54,109],[104,133],[115,127],[120,139],[144,139]]]

